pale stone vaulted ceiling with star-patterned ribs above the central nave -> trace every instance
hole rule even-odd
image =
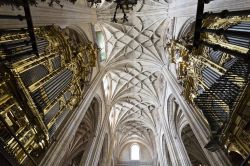
[[[98,24],[106,40],[104,84],[116,144],[122,148],[140,142],[153,154],[155,115],[166,88],[162,67],[167,64],[168,3],[139,1],[126,25],[111,23],[108,8],[114,5],[103,4],[99,9]]]

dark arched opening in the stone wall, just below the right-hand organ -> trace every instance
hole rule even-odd
[[[190,125],[183,128],[181,138],[193,166],[210,165]]]

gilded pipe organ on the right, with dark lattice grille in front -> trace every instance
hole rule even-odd
[[[243,138],[241,133],[250,140],[250,133],[244,131],[250,120],[244,113],[250,97],[249,32],[247,16],[210,16],[202,22],[197,48],[189,43],[193,38],[168,44],[182,95],[201,110],[210,126],[212,137],[206,148],[215,151],[233,145],[245,157],[250,152],[249,142],[235,140]]]

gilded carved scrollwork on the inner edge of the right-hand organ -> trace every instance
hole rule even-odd
[[[200,50],[191,50],[189,45],[182,44],[180,41],[171,41],[168,45],[171,62],[176,64],[177,79],[184,88],[182,94],[192,103],[198,87],[205,87],[201,77],[205,63],[198,56]]]

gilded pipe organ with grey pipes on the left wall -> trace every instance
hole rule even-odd
[[[35,28],[38,55],[26,29],[0,35],[0,146],[18,164],[37,165],[91,80],[97,48],[67,31]]]

